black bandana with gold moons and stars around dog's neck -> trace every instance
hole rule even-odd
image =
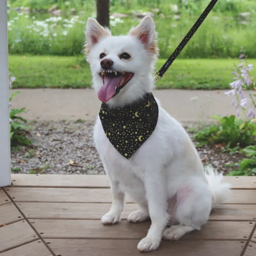
[[[99,117],[111,144],[129,159],[148,139],[157,125],[158,106],[152,93],[123,108],[102,103]]]

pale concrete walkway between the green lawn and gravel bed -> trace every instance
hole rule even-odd
[[[12,90],[14,92],[15,90]],[[94,120],[99,112],[100,101],[92,89],[20,89],[12,105],[26,108],[26,119]],[[225,91],[155,90],[163,108],[179,121],[198,122],[213,114],[234,114],[233,96]],[[192,101],[191,98],[198,97]],[[210,119],[208,119],[209,121]]]

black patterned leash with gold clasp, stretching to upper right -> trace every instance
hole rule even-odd
[[[156,71],[154,73],[154,80],[161,80],[163,78],[163,74],[168,70],[168,68],[172,65],[172,62],[175,61],[177,56],[180,54],[182,49],[186,46],[188,41],[192,38],[192,36],[195,34],[197,29],[200,27],[200,25],[203,23],[204,19],[207,17],[209,12],[212,10],[213,6],[215,6],[215,3],[217,3],[218,0],[211,0],[209,5],[206,7],[204,12],[201,14],[201,16],[198,18],[194,26],[189,30],[189,32],[186,34],[186,36],[183,38],[181,43],[178,45],[178,47],[175,49],[175,51],[172,53],[170,58],[166,61],[166,63],[161,67],[159,71]]]

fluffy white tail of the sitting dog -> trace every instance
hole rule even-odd
[[[206,177],[208,180],[209,187],[212,191],[212,209],[217,207],[219,204],[224,203],[230,195],[231,185],[229,183],[223,183],[222,173],[218,173],[217,170],[213,169],[212,166],[205,168]]]

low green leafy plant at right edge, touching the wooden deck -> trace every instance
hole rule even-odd
[[[249,158],[244,158],[239,168],[227,174],[228,176],[252,176],[256,175],[256,145],[248,146],[241,150]]]

